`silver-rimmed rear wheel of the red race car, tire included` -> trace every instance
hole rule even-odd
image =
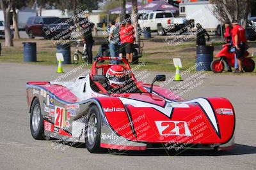
[[[38,98],[35,98],[30,113],[30,131],[33,138],[42,140],[44,139],[44,123],[43,116]]]

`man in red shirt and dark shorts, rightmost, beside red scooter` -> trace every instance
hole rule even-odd
[[[234,71],[234,73],[243,73],[242,66],[242,58],[244,57],[244,53],[246,52],[246,34],[245,29],[238,25],[237,20],[232,21],[232,42],[234,47],[236,48],[236,58],[238,69]]]

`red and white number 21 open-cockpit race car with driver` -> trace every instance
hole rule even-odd
[[[98,64],[122,60],[122,65]],[[83,142],[89,152],[180,148],[227,150],[234,146],[235,113],[222,97],[186,101],[136,81],[119,57],[100,57],[76,81],[28,82],[30,129],[35,139]]]

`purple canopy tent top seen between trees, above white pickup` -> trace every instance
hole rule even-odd
[[[132,3],[128,2],[125,5],[126,13],[132,13]],[[121,13],[121,7],[117,7],[113,10],[109,10],[109,14],[119,14]],[[171,11],[172,13],[179,13],[179,8],[173,6],[172,4],[166,3],[166,1],[152,1],[152,3],[145,4],[142,6],[141,3],[138,3],[138,11]]]

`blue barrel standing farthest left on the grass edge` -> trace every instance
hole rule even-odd
[[[23,61],[36,62],[36,43],[23,43]]]

